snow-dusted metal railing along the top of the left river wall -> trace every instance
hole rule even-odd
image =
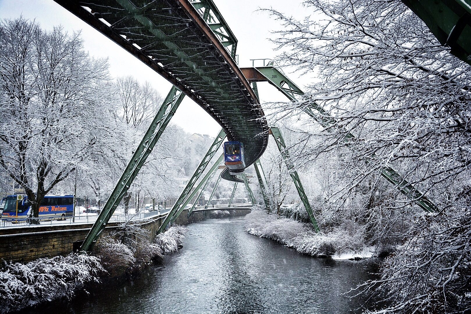
[[[206,209],[205,206],[197,206],[193,211],[201,211],[207,209],[232,209],[236,207],[249,207],[252,206],[252,203],[238,203],[231,204],[228,207],[227,204],[219,205],[209,205]],[[189,208],[187,208],[189,209]],[[109,222],[129,222],[129,221],[138,221],[153,218],[156,216],[167,214],[170,211],[169,209],[165,210],[154,210],[149,212],[141,212],[137,214],[118,214],[112,215]],[[76,216],[66,216],[66,217],[39,217],[39,218],[2,218],[0,222],[0,228],[10,228],[10,227],[34,227],[34,226],[44,226],[44,225],[74,225],[74,224],[93,224],[97,221],[98,214],[82,214]]]

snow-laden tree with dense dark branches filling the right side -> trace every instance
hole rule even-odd
[[[269,10],[283,24],[275,42],[284,52],[276,61],[317,80],[299,102],[274,105],[274,115],[298,115],[313,101],[323,105],[337,120],[304,125],[304,162],[336,160],[333,195],[345,202],[363,194],[360,204],[382,220],[383,236],[391,234],[391,221],[406,227],[400,229],[405,245],[365,291],[374,284],[390,291],[392,305],[381,313],[469,310],[470,66],[399,0],[304,4],[313,11],[304,20]],[[349,133],[354,137],[346,141]],[[384,197],[392,191],[379,185],[385,166],[428,192],[440,212],[421,216],[410,200]]]

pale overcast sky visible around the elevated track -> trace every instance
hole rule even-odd
[[[214,2],[237,37],[237,54],[241,67],[251,66],[250,59],[276,56],[275,45],[268,38],[273,36],[270,31],[280,29],[279,22],[272,20],[266,12],[257,11],[259,8],[274,8],[296,17],[309,15],[306,8],[299,4],[300,1],[214,0]],[[162,97],[165,97],[171,88],[171,84],[159,74],[52,0],[0,0],[0,18],[16,18],[21,15],[24,18],[35,19],[45,29],[60,24],[67,32],[81,30],[85,49],[89,51],[90,56],[107,57],[113,77],[132,75],[139,81],[149,81]],[[302,87],[296,74],[289,76]],[[259,83],[259,93],[262,104],[268,101],[286,100],[268,83]],[[188,97],[185,97],[179,106],[172,122],[187,132],[211,136],[216,136],[220,129],[218,123]]]

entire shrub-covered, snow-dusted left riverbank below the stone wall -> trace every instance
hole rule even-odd
[[[160,262],[164,254],[181,248],[185,231],[183,226],[173,226],[151,243],[145,241],[145,229],[133,226],[132,230],[123,229],[114,237],[101,239],[93,255],[81,252],[39,258],[27,264],[4,263],[0,271],[0,314],[72,298],[90,284],[130,274],[153,261]]]

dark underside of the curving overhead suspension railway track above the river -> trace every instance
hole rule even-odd
[[[178,87],[229,140],[244,143],[247,167],[265,151],[265,114],[233,58],[236,39],[211,0],[56,2]]]

